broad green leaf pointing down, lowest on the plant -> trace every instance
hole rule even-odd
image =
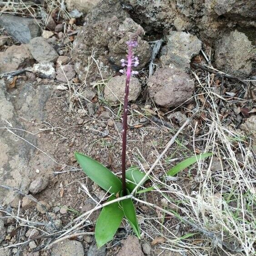
[[[114,199],[116,199],[115,196],[110,196],[108,202]],[[114,238],[123,217],[124,211],[120,208],[119,202],[103,207],[95,226],[95,240],[98,248]]]

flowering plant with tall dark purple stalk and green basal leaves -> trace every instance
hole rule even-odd
[[[130,223],[135,234],[140,238],[140,228],[136,217],[135,207],[131,199],[132,195],[129,194],[136,190],[136,185],[140,181],[142,183],[145,173],[142,173],[134,166],[131,166],[126,170],[125,165],[129,85],[131,75],[138,74],[138,71],[132,70],[132,67],[137,67],[139,65],[139,59],[138,57],[135,57],[133,53],[133,49],[138,43],[135,38],[127,41],[126,44],[128,47],[127,59],[120,60],[121,66],[123,67],[120,72],[126,75],[122,130],[121,181],[119,177],[115,176],[113,172],[99,162],[81,153],[75,153],[76,160],[79,162],[87,176],[105,191],[110,193],[95,226],[95,240],[98,247],[103,246],[113,239],[124,216]],[[147,179],[144,178],[144,180],[146,181]]]

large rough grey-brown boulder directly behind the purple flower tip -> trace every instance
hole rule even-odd
[[[90,65],[88,70],[90,56],[97,61],[103,78],[108,78],[120,70],[120,59],[125,58],[127,51],[126,41],[136,31],[139,37],[135,55],[140,59],[138,69],[141,69],[151,57],[150,45],[143,40],[143,28],[128,18],[118,1],[100,2],[87,15],[87,22],[73,44],[73,60],[80,79],[84,80],[87,72],[90,77],[94,76],[95,80],[100,77],[95,63]]]

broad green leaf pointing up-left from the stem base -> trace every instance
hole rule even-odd
[[[122,189],[122,183],[108,168],[84,154],[75,153],[75,158],[87,176],[111,194]]]

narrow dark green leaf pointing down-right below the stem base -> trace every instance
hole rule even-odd
[[[123,196],[123,191],[121,191],[120,194],[121,194],[121,196]],[[128,189],[127,189],[127,194],[129,194]],[[130,223],[136,236],[138,236],[138,238],[140,239],[141,238],[140,227],[139,227],[135,208],[134,208],[131,198],[122,200],[121,204],[122,204],[123,211],[125,213],[125,217],[126,217],[127,221]]]

